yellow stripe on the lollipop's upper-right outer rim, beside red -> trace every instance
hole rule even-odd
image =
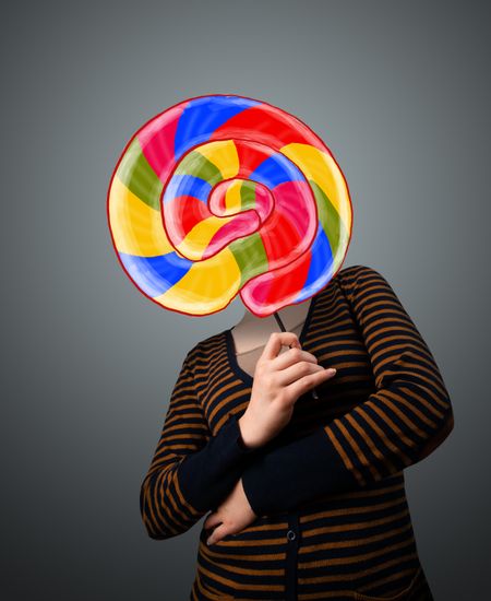
[[[292,143],[280,149],[307,179],[313,179],[333,203],[346,231],[351,228],[351,205],[343,174],[331,155],[309,144]]]

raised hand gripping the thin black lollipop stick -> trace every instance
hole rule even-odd
[[[294,347],[278,356],[288,345]],[[248,409],[239,420],[243,444],[256,448],[274,438],[289,423],[297,399],[335,373],[302,351],[297,334],[272,333],[255,365]]]

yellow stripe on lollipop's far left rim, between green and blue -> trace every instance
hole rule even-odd
[[[173,250],[160,212],[140,200],[118,176],[109,192],[109,221],[119,252],[157,257]]]

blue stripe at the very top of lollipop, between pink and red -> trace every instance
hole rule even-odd
[[[205,96],[191,101],[182,111],[176,130],[176,162],[192,146],[209,140],[212,133],[228,119],[260,104],[259,101],[240,96]]]

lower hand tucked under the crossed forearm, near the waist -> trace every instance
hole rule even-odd
[[[237,534],[256,519],[258,516],[249,505],[248,497],[243,492],[242,479],[240,479],[218,509],[206,518],[205,530],[216,526],[206,543],[215,544],[228,534]]]

